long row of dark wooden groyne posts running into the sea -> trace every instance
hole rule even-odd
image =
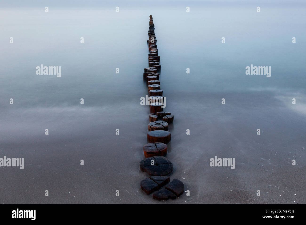
[[[147,40],[150,52],[148,54],[149,67],[144,68],[144,80],[149,95],[150,123],[147,132],[148,144],[143,147],[145,159],[140,162],[140,170],[146,172],[150,177],[142,180],[140,187],[147,195],[154,192],[154,199],[168,200],[179,197],[184,192],[184,184],[178,179],[173,179],[170,182],[169,175],[173,171],[173,164],[165,156],[167,144],[171,140],[168,124],[173,122],[174,116],[170,112],[162,111],[165,107],[165,97],[160,89],[160,74],[158,72],[161,70],[161,65],[152,15],[150,15],[149,25],[149,40]],[[166,185],[165,188],[162,188],[164,185]]]

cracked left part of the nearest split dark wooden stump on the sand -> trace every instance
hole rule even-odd
[[[165,184],[169,183],[169,181],[170,177],[152,176],[142,180],[140,182],[140,188],[144,191],[144,193],[149,195]]]

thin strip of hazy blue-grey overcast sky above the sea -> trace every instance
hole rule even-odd
[[[180,7],[180,6],[243,6],[243,5],[273,5],[295,7],[305,5],[305,0],[0,0],[0,9],[18,8],[111,8],[121,7]]]

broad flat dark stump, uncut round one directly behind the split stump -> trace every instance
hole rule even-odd
[[[151,165],[154,160],[154,165]],[[173,171],[173,164],[164,156],[152,156],[140,161],[140,170],[149,176],[168,176]]]

